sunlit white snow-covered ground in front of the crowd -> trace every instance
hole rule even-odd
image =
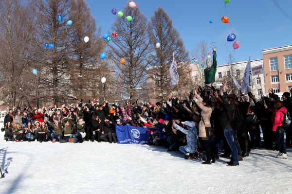
[[[163,147],[106,142],[6,142],[0,132],[0,194],[289,194],[289,159],[255,150],[239,166],[202,165]]]

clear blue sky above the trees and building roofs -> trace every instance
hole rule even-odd
[[[111,9],[122,10],[128,0],[86,0],[91,13],[101,26],[102,33],[110,32],[115,17]],[[231,0],[224,7],[224,0],[134,0],[149,19],[154,11],[163,7],[180,32],[184,45],[191,53],[196,44],[205,40],[218,45],[218,64],[225,64],[226,53],[234,53],[236,62],[262,58],[263,49],[292,44],[292,0]],[[276,6],[274,2],[279,6]],[[234,51],[227,42],[230,25],[221,22],[228,16],[241,45]],[[212,20],[212,30],[209,21]],[[211,46],[210,46],[211,52]],[[228,61],[228,60],[227,60]]]

